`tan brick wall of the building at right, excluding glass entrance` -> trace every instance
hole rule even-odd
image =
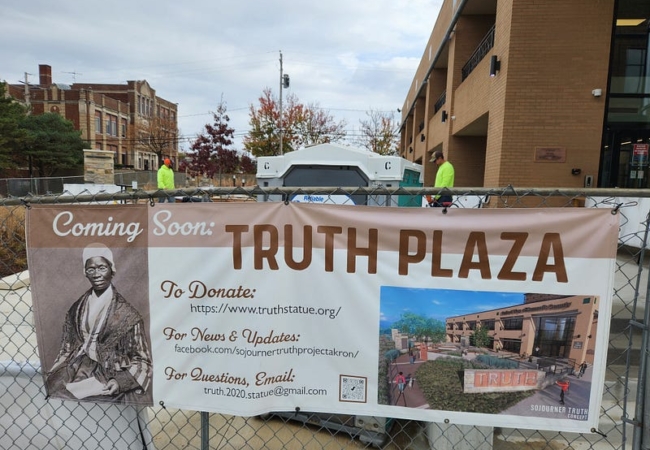
[[[411,155],[405,141],[402,154],[422,161],[427,184],[436,171],[428,160],[438,148],[456,167],[457,186],[581,187],[585,175],[596,183],[614,0],[499,0],[494,11],[462,15],[442,53],[447,60],[436,65],[429,80],[433,87],[423,90],[427,98],[409,110],[430,54],[449,27],[451,3],[443,4],[404,104],[403,114],[414,119],[404,117],[407,134],[413,133],[416,145]],[[493,25],[494,47],[462,80],[462,67]],[[492,55],[501,64],[494,77],[489,74]],[[443,109],[449,118],[443,124],[432,104],[440,95],[438,77],[445,66]],[[594,97],[593,89],[602,89],[603,95]],[[424,145],[417,131],[423,113]],[[555,148],[564,159],[536,159],[540,147]],[[581,174],[572,175],[572,169]]]

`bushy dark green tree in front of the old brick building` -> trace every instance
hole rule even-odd
[[[26,116],[20,124],[28,139],[21,146],[18,160],[29,165],[39,177],[49,177],[58,169],[83,164],[84,140],[69,120],[57,113]]]

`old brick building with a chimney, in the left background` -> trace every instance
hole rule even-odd
[[[156,95],[149,83],[54,83],[52,68],[39,65],[38,85],[8,85],[16,100],[32,114],[61,114],[81,131],[91,149],[113,152],[115,167],[157,170],[160,161],[142,137],[155,130],[164,135],[163,157],[178,159],[177,105]]]

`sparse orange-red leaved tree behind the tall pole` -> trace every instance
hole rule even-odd
[[[259,106],[250,105],[250,131],[244,148],[254,156],[275,156],[303,145],[321,144],[345,137],[345,121],[336,123],[325,110],[305,106],[289,94],[282,107],[282,152],[280,152],[280,107],[270,88],[259,98]]]

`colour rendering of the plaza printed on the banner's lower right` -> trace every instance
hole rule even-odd
[[[380,377],[388,393],[382,400],[586,420],[598,300],[385,286]]]

